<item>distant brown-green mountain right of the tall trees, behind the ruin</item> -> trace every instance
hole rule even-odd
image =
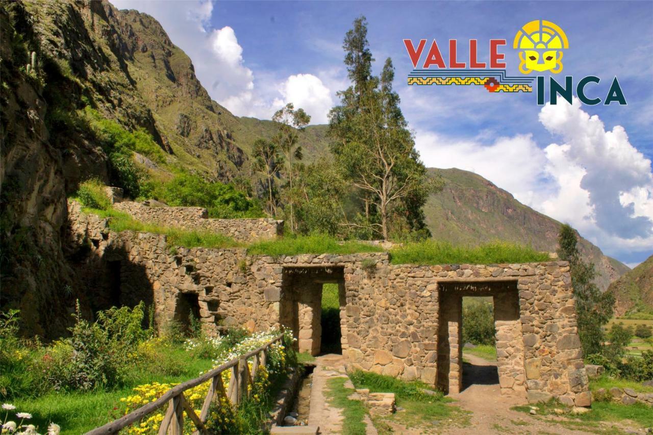
[[[513,195],[473,172],[429,172],[445,181],[443,191],[430,195],[424,206],[426,224],[435,238],[470,245],[509,240],[530,244],[541,251],[556,251],[560,222],[521,204]],[[596,265],[596,283],[601,291],[629,270],[580,236],[579,250],[585,261]]]

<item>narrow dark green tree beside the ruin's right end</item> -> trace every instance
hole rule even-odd
[[[558,234],[558,257],[569,261],[579,337],[582,351],[587,356],[603,349],[605,336],[602,327],[613,315],[614,295],[599,291],[593,282],[596,276],[594,265],[582,261],[577,245],[576,231],[565,223]]]

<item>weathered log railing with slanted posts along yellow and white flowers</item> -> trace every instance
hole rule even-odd
[[[106,423],[104,426],[86,432],[86,435],[117,434],[119,430],[140,421],[140,419],[146,415],[163,408],[166,404],[168,404],[168,410],[159,426],[159,435],[165,435],[168,433],[172,435],[182,435],[184,411],[189,419],[191,419],[193,425],[195,425],[195,432],[193,433],[205,434],[208,430],[204,423],[206,423],[211,402],[214,398],[216,398],[217,395],[223,395],[229,399],[233,406],[238,405],[243,398],[246,398],[247,387],[253,383],[257,370],[259,367],[265,366],[270,346],[280,341],[282,338],[283,334],[279,334],[264,346],[254,349],[245,355],[240,355],[240,357],[234,358],[231,361],[214,368],[210,372],[206,372],[199,378],[180,383],[163,393],[163,395],[154,402],[141,406],[137,410],[132,411],[117,420]],[[251,371],[247,364],[247,360],[250,358],[254,359]],[[221,373],[225,370],[231,370],[231,379],[229,379],[227,389],[225,389],[225,386],[222,383],[221,376]],[[197,415],[195,410],[193,410],[186,398],[183,396],[183,392],[208,381],[211,381],[211,384],[208,387],[206,398],[204,398],[204,404],[202,405],[200,415]]]

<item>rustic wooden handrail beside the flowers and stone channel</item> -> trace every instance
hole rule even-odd
[[[220,376],[220,374],[222,372],[224,372],[225,370],[227,370],[229,368],[232,368],[232,367],[236,367],[236,370],[234,370],[234,372],[236,374],[238,374],[238,372],[240,370],[245,370],[244,368],[240,368],[240,370],[239,370],[239,368],[238,368],[238,363],[239,362],[245,361],[247,363],[247,359],[249,359],[251,357],[254,357],[255,355],[258,355],[261,352],[266,351],[266,349],[268,349],[268,347],[272,346],[272,344],[278,342],[282,338],[283,338],[283,334],[279,334],[278,336],[272,338],[272,340],[270,340],[270,342],[268,342],[264,346],[261,346],[261,347],[259,347],[257,349],[254,349],[253,351],[249,351],[244,355],[240,355],[240,356],[232,359],[229,362],[225,362],[225,364],[222,364],[221,366],[218,366],[217,368],[214,368],[213,370],[210,370],[209,372],[206,372],[205,374],[203,374],[199,378],[191,379],[189,381],[185,381],[183,383],[180,383],[179,385],[175,385],[174,387],[172,387],[171,389],[169,389],[168,391],[163,393],[163,395],[161,397],[159,397],[157,400],[155,400],[154,402],[150,402],[150,403],[148,403],[146,405],[143,405],[140,408],[138,408],[137,410],[131,411],[127,415],[123,415],[123,417],[120,417],[117,420],[110,421],[109,423],[106,423],[106,425],[104,425],[104,426],[97,427],[97,428],[95,428],[93,430],[90,430],[89,432],[86,432],[86,435],[117,434],[119,432],[119,430],[131,425],[132,423],[135,423],[136,421],[139,421],[140,419],[142,419],[146,415],[148,415],[148,414],[150,414],[150,413],[152,413],[152,412],[154,412],[156,410],[159,410],[160,408],[163,408],[164,406],[166,406],[168,404],[169,405],[168,412],[166,413],[166,418],[164,419],[164,421],[162,422],[162,425],[161,425],[161,430],[164,430],[165,432],[163,432],[163,433],[166,433],[167,432],[167,427],[163,427],[163,423],[170,423],[171,420],[174,420],[176,418],[175,417],[176,414],[181,415],[181,413],[183,413],[183,410],[184,410],[183,405],[186,403],[185,398],[183,398],[183,392],[184,391],[186,391],[187,389],[191,389],[193,387],[197,387],[197,385],[200,385],[200,384],[202,384],[202,383],[204,383],[206,381],[210,381],[211,379],[214,379],[216,376]],[[264,357],[263,357],[263,360],[264,360]],[[264,365],[264,362],[261,363],[261,365]],[[246,373],[247,373],[247,371],[248,371],[248,369],[246,370]],[[237,375],[236,375],[236,377],[237,377]],[[232,383],[234,384],[233,387],[234,387],[234,389],[236,389],[236,391],[238,391],[238,389],[243,388],[242,384],[238,385],[238,383],[236,382],[236,379],[233,376],[232,376],[231,381],[229,382],[230,386],[232,385]],[[220,382],[219,385],[221,387],[222,383]],[[245,389],[245,391],[247,391],[246,384],[245,384],[244,389]],[[222,391],[224,391],[224,388],[222,388]],[[215,395],[216,393],[219,393],[219,392],[220,391],[217,388],[209,388],[209,392],[208,392],[207,396],[209,396],[209,395],[212,396],[212,395]],[[227,396],[227,397],[229,398],[229,396]],[[240,401],[240,395],[238,395],[238,393],[236,393],[236,398],[237,398],[236,402],[239,402]],[[208,416],[208,404],[210,404],[210,400],[208,401],[208,403],[205,402],[205,405],[206,405],[206,408],[207,408],[206,409],[206,415],[204,415],[204,410],[202,410],[202,414],[203,414],[202,418],[203,419],[206,419],[206,417]],[[170,414],[170,415],[168,416],[168,414]],[[195,417],[197,417],[197,415],[195,415]],[[193,421],[193,423],[195,423],[195,419],[193,419],[192,417],[191,417],[191,421]],[[206,423],[206,421],[205,420],[201,421],[201,423],[203,425],[203,423]],[[195,425],[197,427],[197,423],[195,423]],[[204,428],[203,427],[197,427],[197,429],[198,430],[203,430]],[[161,433],[161,430],[159,430],[159,433]],[[174,432],[174,430],[173,430],[173,432]]]

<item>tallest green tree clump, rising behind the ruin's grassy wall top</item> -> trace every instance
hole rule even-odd
[[[329,133],[336,139],[332,146],[336,162],[365,205],[362,226],[372,227],[384,239],[389,238],[393,221],[403,221],[410,229],[423,227],[421,208],[428,193],[441,188],[441,181],[430,180],[419,160],[399,95],[392,89],[392,60],[385,61],[380,78],[371,75],[374,59],[364,17],[354,21],[343,48],[352,86],[338,93],[340,105],[330,112]],[[403,214],[396,213],[400,209]]]

